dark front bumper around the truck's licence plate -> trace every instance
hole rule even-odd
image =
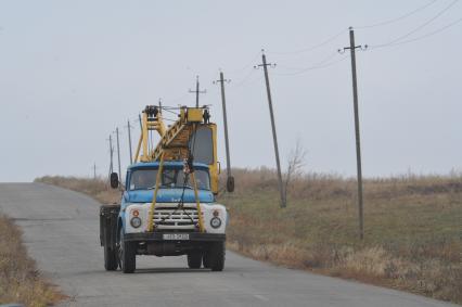
[[[188,233],[189,240],[165,240],[166,233]],[[126,233],[124,241],[129,242],[221,242],[226,241],[227,235],[221,233],[204,233],[204,232],[141,232]]]

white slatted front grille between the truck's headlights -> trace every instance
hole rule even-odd
[[[154,225],[158,230],[194,230],[198,225],[196,204],[156,204],[154,209]]]

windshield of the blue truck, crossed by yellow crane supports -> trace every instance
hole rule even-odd
[[[195,181],[197,189],[210,190],[210,178],[208,171],[195,169]],[[131,172],[129,190],[152,190],[155,189],[157,169],[136,169]],[[184,172],[182,168],[164,168],[162,174],[161,189],[194,189],[191,177],[184,182]]]

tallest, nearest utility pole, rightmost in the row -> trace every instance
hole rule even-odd
[[[338,50],[339,53],[349,50],[351,54],[351,75],[352,75],[352,104],[355,111],[355,137],[356,137],[356,165],[358,174],[358,215],[359,215],[359,239],[364,238],[364,214],[362,203],[362,169],[361,169],[361,139],[359,133],[359,110],[358,110],[358,81],[356,75],[356,49],[365,50],[368,46],[355,44],[355,31],[349,27],[349,47]]]

